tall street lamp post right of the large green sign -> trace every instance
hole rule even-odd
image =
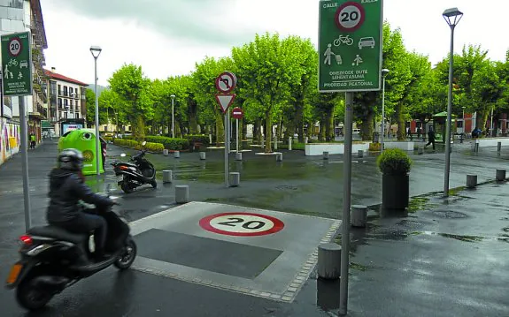
[[[451,112],[452,112],[452,66],[454,64],[454,28],[463,13],[458,8],[443,11],[443,19],[451,27],[451,52],[449,56],[449,95],[447,100],[447,124],[445,125],[445,169],[443,175],[443,194],[449,196],[449,171],[451,170]]]

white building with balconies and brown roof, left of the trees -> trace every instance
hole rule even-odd
[[[89,85],[59,74],[55,68],[46,70],[45,74],[48,79],[50,128],[59,136],[63,134],[62,122],[86,118],[86,90]]]

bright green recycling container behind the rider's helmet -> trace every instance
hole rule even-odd
[[[101,138],[102,139],[102,138]],[[83,175],[96,174],[96,131],[93,129],[78,129],[66,132],[58,140],[58,151],[65,148],[76,148],[81,151],[84,157]],[[101,140],[101,153],[99,171],[104,173],[105,144]]]

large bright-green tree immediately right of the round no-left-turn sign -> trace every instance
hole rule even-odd
[[[273,116],[288,102],[290,87],[298,85],[305,72],[300,67],[305,57],[296,49],[301,43],[295,36],[281,40],[279,34],[257,34],[253,42],[232,50],[238,90],[246,99],[256,101],[253,103],[265,119],[266,153],[272,152]]]

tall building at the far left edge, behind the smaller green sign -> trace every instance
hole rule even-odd
[[[32,34],[33,92],[23,97],[27,134],[41,141],[42,120],[48,116],[44,49],[48,49],[40,0],[0,0],[0,34]],[[3,96],[3,94],[2,94]],[[0,105],[0,163],[19,151],[19,97],[3,97]]]

